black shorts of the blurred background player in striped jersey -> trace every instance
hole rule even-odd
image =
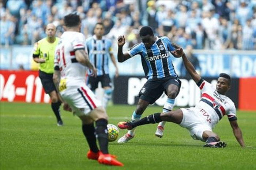
[[[99,82],[101,82],[101,87],[111,87],[111,80],[109,74],[104,74],[97,77],[89,76],[88,86],[91,90],[94,91],[96,90],[96,88],[98,88]]]

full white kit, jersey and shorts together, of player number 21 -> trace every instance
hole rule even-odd
[[[89,114],[101,102],[86,86],[87,67],[75,58],[76,50],[84,50],[85,38],[79,32],[64,32],[55,50],[54,70],[60,71],[59,91],[74,114]]]

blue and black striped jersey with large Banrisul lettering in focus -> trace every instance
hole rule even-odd
[[[133,46],[128,54],[133,57],[141,56],[142,67],[147,79],[164,78],[168,76],[177,77],[174,70],[170,51],[174,51],[170,39],[166,36],[157,37],[155,43],[146,49],[141,42]]]

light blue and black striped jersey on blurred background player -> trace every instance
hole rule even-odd
[[[112,42],[102,37],[98,40],[94,35],[86,40],[90,62],[97,69],[97,75],[109,74],[109,57],[112,53]]]

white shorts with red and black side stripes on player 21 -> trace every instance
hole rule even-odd
[[[72,111],[77,116],[87,115],[96,107],[102,106],[101,101],[98,100],[95,94],[84,85],[67,87],[60,92],[61,97],[69,104]]]

